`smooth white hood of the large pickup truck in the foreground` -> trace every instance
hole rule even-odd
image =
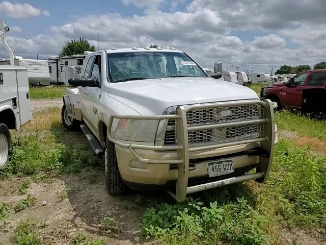
[[[250,88],[212,78],[161,78],[112,83],[107,95],[142,115],[161,115],[171,106],[259,99]]]

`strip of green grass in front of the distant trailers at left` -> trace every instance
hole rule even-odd
[[[31,99],[61,98],[65,90],[65,86],[30,87],[30,95]]]

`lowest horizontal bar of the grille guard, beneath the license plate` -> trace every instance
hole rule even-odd
[[[237,176],[237,177],[233,177],[233,178],[229,178],[229,179],[225,179],[225,180],[218,180],[218,181],[209,182],[209,183],[205,183],[205,184],[189,186],[189,187],[187,187],[186,194],[192,194],[192,193],[203,191],[203,190],[209,190],[209,189],[213,189],[213,188],[216,188],[216,187],[221,187],[221,186],[224,186],[224,185],[235,184],[235,183],[243,182],[243,181],[246,181],[246,180],[255,180],[255,179],[262,178],[263,176],[264,176],[263,172],[258,172],[258,173],[255,173],[255,174],[241,175],[241,176]],[[173,193],[170,190],[167,190],[167,191],[168,191],[168,193],[170,195],[172,195],[172,197],[174,199],[177,200],[177,197],[176,197],[175,193]]]

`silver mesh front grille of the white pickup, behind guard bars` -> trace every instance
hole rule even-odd
[[[232,106],[207,109],[195,109],[188,111],[187,125],[209,125],[219,122],[234,122],[240,120],[259,119],[264,117],[263,108],[260,105]],[[227,143],[243,139],[252,139],[264,135],[263,124],[241,125],[218,129],[198,130],[188,132],[189,145]],[[165,135],[165,144],[175,144],[175,119],[168,122],[168,130]]]

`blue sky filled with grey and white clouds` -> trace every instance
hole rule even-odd
[[[203,67],[269,73],[326,60],[324,0],[0,1],[17,56],[48,58],[65,41],[95,47],[174,46]],[[0,46],[0,58],[8,56]],[[233,68],[235,69],[235,68]]]

